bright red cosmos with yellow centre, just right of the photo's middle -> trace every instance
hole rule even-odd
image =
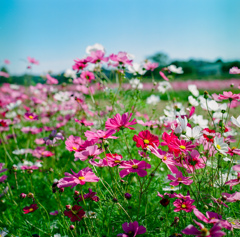
[[[137,143],[137,147],[142,147],[142,149],[147,149],[148,146],[159,146],[158,136],[151,134],[149,130],[141,131],[138,136],[134,135],[133,141]]]

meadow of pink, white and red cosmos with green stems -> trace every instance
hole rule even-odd
[[[1,84],[0,236],[240,236],[239,79],[180,91],[181,67],[86,53]]]

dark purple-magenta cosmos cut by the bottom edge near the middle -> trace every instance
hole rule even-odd
[[[137,221],[130,222],[130,223],[123,223],[122,224],[124,234],[118,234],[117,236],[122,237],[135,237],[136,235],[141,235],[146,233],[146,228],[142,225],[139,226]]]

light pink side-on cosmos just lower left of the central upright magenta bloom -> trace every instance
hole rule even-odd
[[[112,134],[116,133],[114,129],[109,129],[107,131],[97,130],[97,131],[86,131],[84,134],[87,137],[87,140],[93,140],[95,142],[103,141],[106,139],[117,139],[118,137],[112,136]]]

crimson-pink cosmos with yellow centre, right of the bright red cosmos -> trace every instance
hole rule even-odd
[[[175,156],[178,156],[181,152],[187,154],[189,151],[192,151],[196,145],[192,144],[191,141],[174,139],[168,144],[168,147],[173,150]]]

